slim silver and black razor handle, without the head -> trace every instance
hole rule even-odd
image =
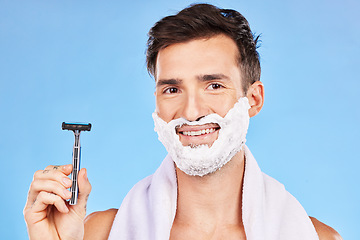
[[[74,134],[75,134],[75,143],[73,148],[73,159],[72,159],[73,171],[71,173],[72,185],[70,188],[70,192],[71,192],[71,198],[69,202],[70,205],[76,205],[78,193],[79,193],[78,174],[80,170],[80,152],[81,152],[80,131],[75,130]]]

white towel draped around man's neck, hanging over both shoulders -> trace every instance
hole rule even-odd
[[[262,173],[245,146],[243,223],[248,240],[318,240],[300,203],[275,179]],[[167,156],[156,172],[137,183],[121,204],[110,240],[169,239],[175,218],[177,181]]]

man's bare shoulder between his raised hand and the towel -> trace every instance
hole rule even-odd
[[[85,218],[85,240],[108,239],[117,209],[93,212]]]

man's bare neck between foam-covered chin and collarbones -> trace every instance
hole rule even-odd
[[[204,177],[189,176],[177,168],[175,221],[209,229],[242,225],[244,166],[244,151],[240,151],[220,170]]]

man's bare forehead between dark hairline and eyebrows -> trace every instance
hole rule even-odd
[[[235,42],[225,35],[172,44],[158,53],[155,79],[235,74],[239,72],[238,55]]]

